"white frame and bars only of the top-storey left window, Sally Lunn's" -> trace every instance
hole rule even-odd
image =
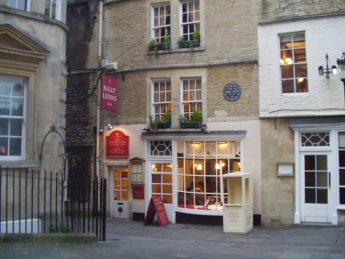
[[[166,14],[166,8],[169,8],[169,14]],[[164,8],[164,14],[161,14],[161,8]],[[158,9],[159,15],[158,17],[155,17],[155,9]],[[160,17],[164,17],[164,24],[161,24],[161,19]],[[170,17],[170,23],[166,23],[167,17]],[[158,25],[155,26],[155,19],[158,19]],[[164,33],[161,33],[162,30],[164,30]],[[158,32],[158,35],[156,35],[156,32]],[[164,35],[163,35],[164,34]],[[166,35],[170,36],[171,34],[171,6],[170,3],[161,3],[161,4],[156,4],[152,5],[151,7],[151,38],[152,39],[157,39],[159,43],[164,43],[164,39]]]

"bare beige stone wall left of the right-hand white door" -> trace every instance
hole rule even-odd
[[[262,224],[293,224],[295,177],[278,177],[277,164],[295,163],[288,119],[261,119]]]

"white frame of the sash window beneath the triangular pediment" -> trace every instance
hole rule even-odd
[[[1,161],[21,161],[25,159],[26,154],[26,102],[27,102],[27,85],[28,85],[28,78],[18,76],[18,75],[8,75],[8,74],[0,74],[5,75],[12,78],[20,77],[23,79],[23,115],[22,116],[12,116],[12,115],[0,115],[0,118],[8,118],[8,119],[21,119],[21,155],[0,155]],[[10,129],[9,129],[10,131]],[[1,135],[0,135],[1,137]],[[3,136],[6,137],[6,136]],[[8,137],[10,137],[10,132],[8,133]],[[9,146],[8,146],[9,148]]]

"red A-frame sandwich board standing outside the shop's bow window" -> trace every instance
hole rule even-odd
[[[168,220],[168,215],[166,215],[166,209],[164,208],[163,200],[161,196],[154,196],[150,198],[150,203],[148,204],[148,211],[146,213],[144,225],[152,224],[155,219],[155,214],[157,213],[157,218],[159,226],[163,227],[170,224]]]

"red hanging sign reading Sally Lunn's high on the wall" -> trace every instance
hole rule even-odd
[[[117,78],[107,74],[101,75],[101,109],[117,112]]]

